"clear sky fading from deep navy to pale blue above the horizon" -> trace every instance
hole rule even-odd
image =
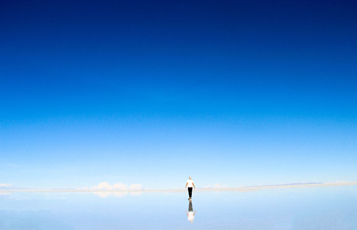
[[[0,183],[357,180],[355,1],[2,1]]]

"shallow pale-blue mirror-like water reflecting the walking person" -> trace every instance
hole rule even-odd
[[[194,216],[186,193],[2,193],[0,229],[357,229],[357,186],[192,197]]]

